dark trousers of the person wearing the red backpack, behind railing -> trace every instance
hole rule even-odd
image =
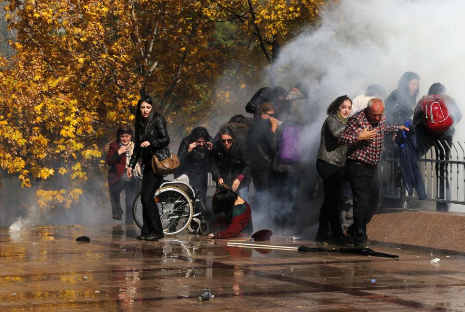
[[[432,135],[423,125],[418,125],[417,145],[420,157],[423,156],[430,148],[434,146],[436,160],[450,159],[450,146],[452,145],[452,135]],[[436,195],[439,199],[450,199],[449,171],[448,164],[436,163]],[[445,202],[436,202],[436,211],[449,211],[450,204]]]

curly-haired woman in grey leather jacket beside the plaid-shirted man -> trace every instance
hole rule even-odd
[[[320,148],[318,149],[316,170],[323,179],[325,199],[320,208],[320,226],[315,240],[324,242],[328,238],[329,226],[331,236],[336,243],[342,238],[339,222],[341,203],[342,172],[345,164],[347,147],[338,143],[338,137],[345,128],[352,108],[352,100],[346,95],[335,99],[327,109],[327,118],[321,128]]]

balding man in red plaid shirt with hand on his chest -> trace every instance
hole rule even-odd
[[[408,131],[408,128],[387,125],[383,101],[370,99],[366,109],[349,118],[338,138],[339,144],[349,147],[345,167],[354,200],[354,223],[348,232],[354,237],[356,247],[366,247],[367,224],[378,207],[377,165],[385,134],[398,130]]]

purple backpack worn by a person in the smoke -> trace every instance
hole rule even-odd
[[[279,160],[282,164],[294,164],[300,161],[300,127],[286,125],[279,139]]]

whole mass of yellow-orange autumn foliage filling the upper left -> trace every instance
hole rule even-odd
[[[205,124],[324,1],[3,2],[16,39],[0,58],[0,166],[37,184],[41,206],[69,207],[101,179],[103,147],[133,122],[141,93],[155,97],[171,135]]]

